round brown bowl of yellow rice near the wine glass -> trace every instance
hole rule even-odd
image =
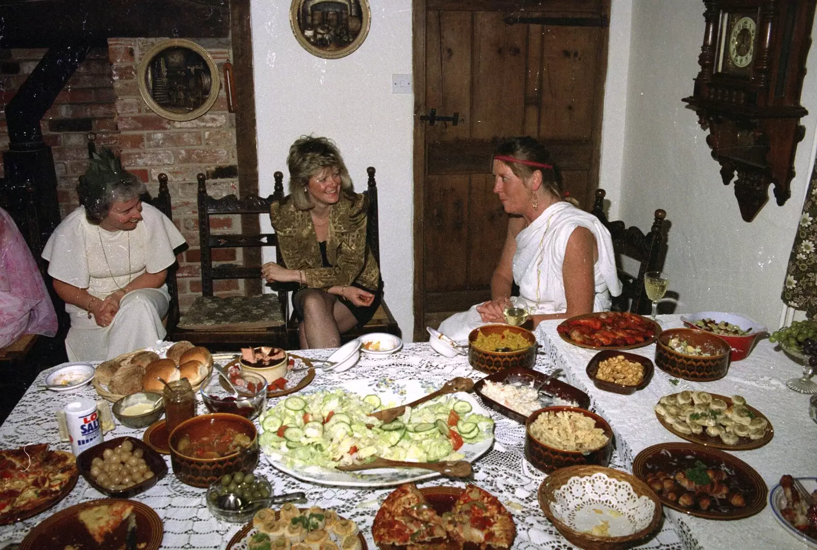
[[[468,334],[468,362],[483,373],[533,369],[537,348],[534,333],[511,324],[485,324]]]

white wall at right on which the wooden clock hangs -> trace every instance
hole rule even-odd
[[[806,65],[801,102],[811,114],[801,119],[806,138],[797,147],[792,198],[779,207],[772,196],[747,223],[740,217],[734,187],[721,183],[707,132],[681,102],[691,95],[699,69],[703,2],[613,0],[613,7],[614,15],[618,7],[632,11],[628,62],[614,57],[612,47],[614,37],[626,42],[627,22],[614,17],[610,29],[608,83],[624,78],[616,73],[626,73],[627,95],[618,96],[620,86],[608,87],[605,106],[626,101],[625,122],[622,127],[620,119],[608,118],[615,126],[605,124],[602,145],[605,153],[615,150],[613,141],[623,136],[621,219],[646,228],[655,208],[667,210],[672,225],[665,271],[670,288],[680,293],[678,311],[736,311],[775,329],[813,162],[817,52],[811,51]]]

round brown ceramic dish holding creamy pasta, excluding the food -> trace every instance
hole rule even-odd
[[[607,443],[599,449],[589,453],[579,451],[569,451],[556,449],[550,445],[545,445],[530,434],[530,425],[542,413],[558,413],[560,411],[571,411],[584,414],[596,421],[596,427],[601,428],[608,437]],[[613,454],[613,430],[604,418],[589,410],[578,409],[578,407],[547,407],[539,409],[528,417],[525,422],[525,458],[542,472],[547,474],[568,466],[580,466],[583,464],[596,464],[597,466],[607,466],[610,463],[610,455]]]

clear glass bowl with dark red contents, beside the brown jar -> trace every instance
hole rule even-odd
[[[230,371],[230,382],[240,391],[234,393],[215,370],[199,391],[211,413],[238,414],[249,420],[257,418],[266,405],[266,378],[246,370]]]

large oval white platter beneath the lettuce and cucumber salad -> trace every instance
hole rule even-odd
[[[389,380],[386,382],[385,379],[377,378],[365,378],[362,380],[344,382],[340,384],[339,387],[350,393],[356,393],[359,396],[368,396],[373,393],[377,394],[384,403],[389,401],[410,403],[413,400],[428,395],[431,391],[439,389],[438,387],[427,387],[427,384],[426,389],[423,389],[421,382],[417,380]],[[484,416],[491,418],[491,414],[485,410],[479,401],[471,394],[460,392],[455,395],[458,399],[466,400],[471,403],[474,413],[484,414]],[[264,432],[263,427],[259,427],[259,432]],[[493,445],[493,434],[479,443],[462,445],[462,448],[460,448],[458,452],[465,455],[463,460],[473,463],[477,458],[487,453],[491,445]],[[377,470],[365,470],[364,472],[341,472],[339,470],[319,466],[292,468],[285,466],[282,462],[279,462],[279,460],[270,458],[266,453],[263,454],[268,463],[283,473],[289,474],[301,481],[336,487],[391,487],[392,485],[400,485],[402,483],[408,483],[409,481],[426,480],[431,477],[440,476],[437,472],[421,470],[419,468],[380,468]]]

